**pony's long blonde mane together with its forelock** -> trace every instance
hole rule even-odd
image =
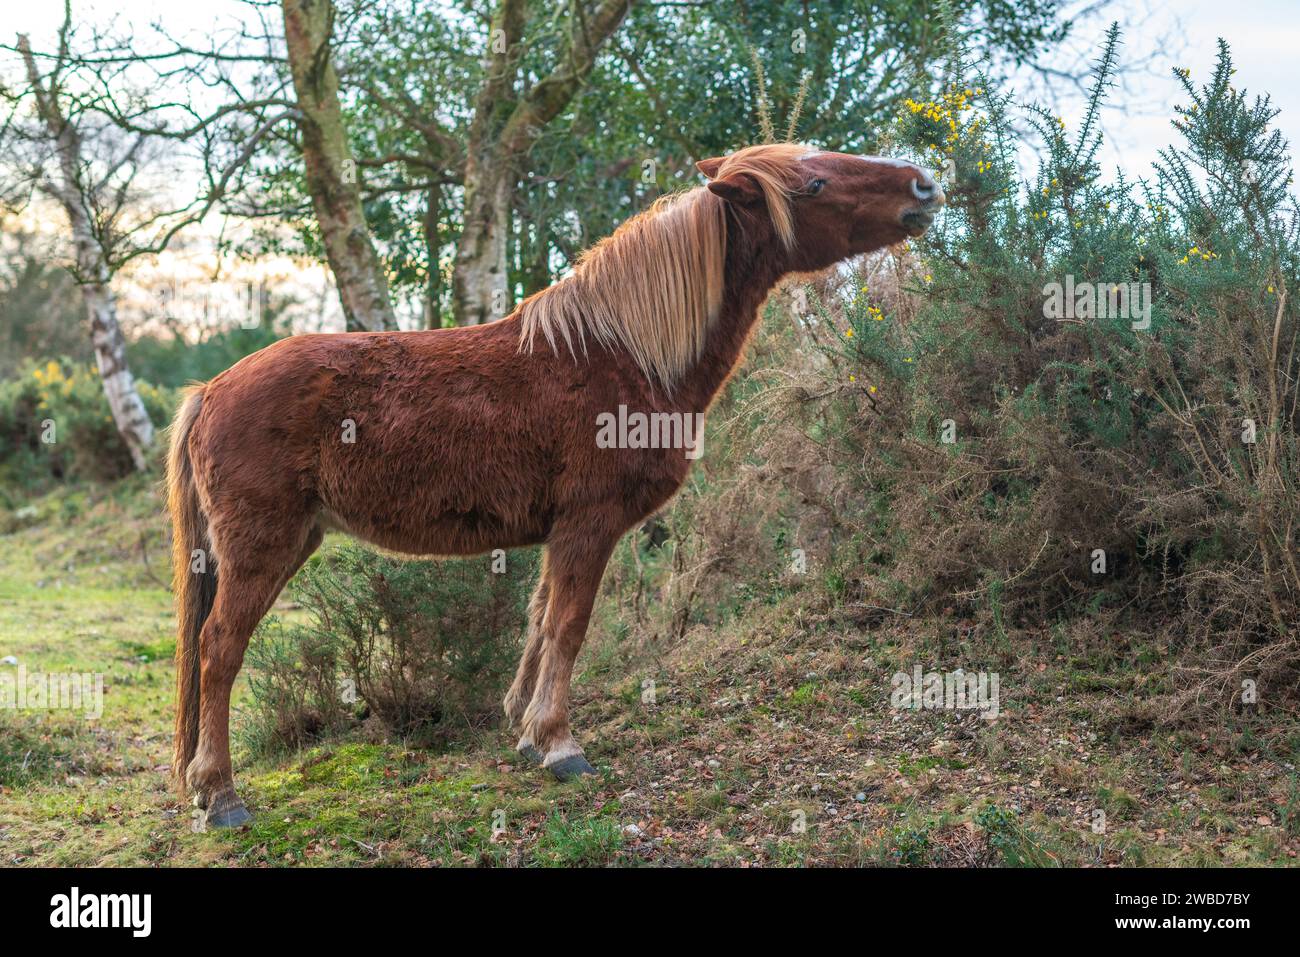
[[[728,156],[714,178],[748,173],[767,200],[781,243],[794,244],[794,166],[809,147],[753,146]],[[699,359],[723,299],[724,202],[705,187],[663,196],[584,252],[573,272],[520,306],[520,350],[541,333],[576,359],[588,338],[624,348],[650,381],[672,390]]]

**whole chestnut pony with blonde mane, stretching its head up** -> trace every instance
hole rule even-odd
[[[660,199],[506,319],[295,335],[188,393],[168,463],[174,772],[209,824],[250,818],[230,689],[328,528],[412,555],[545,545],[506,716],[560,779],[593,772],[569,731],[573,661],[615,544],[693,458],[604,447],[598,420],[702,415],[781,277],[919,235],[944,203],[911,164],[794,144],[698,166],[707,187]]]

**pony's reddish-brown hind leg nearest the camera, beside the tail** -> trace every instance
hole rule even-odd
[[[322,536],[315,525],[280,531],[278,536],[266,532],[263,529],[256,542],[222,536],[217,596],[199,635],[199,744],[186,768],[186,783],[195,804],[207,811],[209,827],[238,827],[252,817],[235,792],[230,766],[230,690],[254,629]],[[272,545],[272,538],[278,541]]]

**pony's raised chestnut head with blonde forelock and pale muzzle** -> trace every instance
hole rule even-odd
[[[751,146],[697,166],[710,192],[771,222],[789,272],[920,235],[944,204],[939,183],[911,163],[796,143]]]

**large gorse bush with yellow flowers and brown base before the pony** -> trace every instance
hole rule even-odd
[[[948,209],[768,303],[663,547],[616,555],[650,638],[811,589],[831,620],[952,623],[980,655],[1141,636],[1166,655],[1144,720],[1239,706],[1245,679],[1294,698],[1286,144],[1225,47],[1204,85],[1179,74],[1180,144],[1104,176],[1117,44],[1076,130],[961,69],[904,105],[885,152],[942,170]],[[1026,120],[1043,148],[1022,176]]]

